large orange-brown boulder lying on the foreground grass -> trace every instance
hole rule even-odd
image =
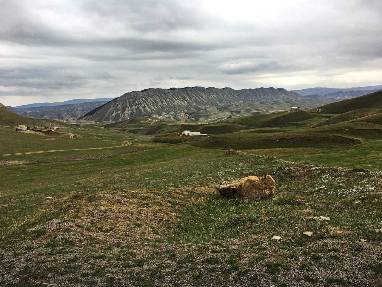
[[[247,176],[232,184],[218,188],[222,196],[237,199],[264,199],[275,194],[276,182],[270,175]]]

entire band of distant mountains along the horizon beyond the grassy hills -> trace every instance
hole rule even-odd
[[[8,107],[26,117],[42,119],[85,119],[117,122],[135,116],[159,117],[163,121],[223,121],[253,114],[272,113],[301,106],[316,108],[382,90],[382,85],[353,88],[308,88],[287,91],[283,88],[185,87],[149,88],[132,91],[118,98],[73,99],[54,103],[34,103]]]

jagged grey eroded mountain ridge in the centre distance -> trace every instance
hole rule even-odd
[[[244,103],[256,101],[270,102],[296,98],[301,99],[301,96],[283,88],[272,87],[242,90],[199,86],[168,90],[150,88],[133,91],[115,98],[104,106],[87,113],[83,119],[96,122],[117,122],[135,116],[147,116],[162,117],[166,121],[216,121],[238,116],[231,111],[221,111],[219,107],[222,106],[238,104],[239,107],[245,106]]]

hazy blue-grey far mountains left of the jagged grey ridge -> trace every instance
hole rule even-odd
[[[79,119],[84,114],[107,103],[107,101],[84,102],[77,104],[62,104],[58,106],[38,106],[27,108],[8,107],[11,111],[24,117],[36,117],[39,119]]]

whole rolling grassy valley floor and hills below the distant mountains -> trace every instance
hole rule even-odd
[[[217,123],[78,126],[2,106],[0,285],[377,284],[381,99]],[[60,128],[15,131],[24,123]],[[216,190],[267,174],[271,199]]]

